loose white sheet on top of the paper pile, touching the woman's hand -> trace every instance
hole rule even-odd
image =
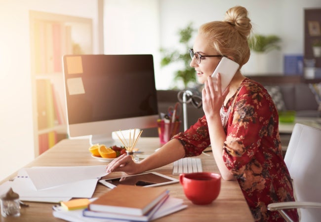
[[[105,175],[106,166],[32,167],[25,169],[37,190],[65,185]]]

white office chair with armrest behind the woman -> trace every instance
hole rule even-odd
[[[294,202],[272,203],[271,211],[299,208],[300,222],[321,221],[321,129],[296,123],[285,156],[293,180]]]

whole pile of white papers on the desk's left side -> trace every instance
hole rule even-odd
[[[106,175],[106,166],[32,167],[0,185],[0,195],[10,187],[21,200],[53,202],[72,197],[91,198],[97,181]]]

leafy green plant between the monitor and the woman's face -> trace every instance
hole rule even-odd
[[[189,83],[196,82],[196,74],[194,68],[190,67],[191,56],[189,48],[191,47],[191,37],[196,30],[192,27],[192,23],[184,29],[180,29],[178,34],[180,36],[179,43],[182,45],[178,49],[169,50],[161,48],[161,67],[167,66],[172,63],[180,63],[182,68],[174,73],[174,81],[183,81],[185,88]]]

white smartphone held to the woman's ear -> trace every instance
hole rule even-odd
[[[214,70],[212,77],[215,78],[218,73],[221,74],[221,86],[222,86],[222,93],[226,89],[226,87],[230,84],[234,74],[238,71],[240,65],[234,62],[231,59],[223,57],[219,64],[217,65],[216,69]]]

